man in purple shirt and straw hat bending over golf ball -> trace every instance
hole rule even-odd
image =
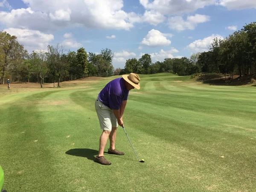
[[[140,89],[140,77],[135,73],[130,73],[110,81],[99,93],[95,101],[95,109],[103,132],[99,139],[99,154],[96,156],[95,162],[102,165],[111,165],[111,162],[104,157],[104,149],[108,138],[110,140],[108,154],[125,154],[115,148],[116,129],[118,125],[124,126],[122,116],[129,91],[134,87]]]

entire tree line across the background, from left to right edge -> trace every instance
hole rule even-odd
[[[247,24],[226,38],[215,38],[208,52],[192,54],[190,58],[165,58],[152,63],[151,56],[126,60],[125,68],[114,69],[113,52],[102,49],[99,54],[87,53],[82,47],[76,52],[66,50],[61,44],[48,46],[47,52],[28,53],[17,37],[0,32],[0,83],[6,79],[22,82],[69,81],[84,76],[108,77],[127,73],[175,73],[187,76],[195,73],[230,73],[250,75],[256,72],[256,22]]]

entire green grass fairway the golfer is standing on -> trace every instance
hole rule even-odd
[[[140,75],[111,166],[95,163],[94,108],[111,79],[0,87],[0,165],[8,192],[256,192],[256,87]],[[12,91],[12,93],[8,93]],[[108,151],[109,143],[105,151]]]

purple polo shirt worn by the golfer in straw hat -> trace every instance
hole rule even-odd
[[[104,105],[118,110],[123,100],[128,99],[129,91],[125,88],[125,80],[121,78],[110,81],[99,93],[98,98]]]

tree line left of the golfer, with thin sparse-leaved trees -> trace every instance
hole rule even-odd
[[[113,53],[102,49],[100,54],[87,52],[83,47],[75,51],[61,44],[47,47],[45,51],[29,52],[19,44],[17,37],[0,32],[0,84],[10,81],[58,83],[84,76],[113,76]]]

